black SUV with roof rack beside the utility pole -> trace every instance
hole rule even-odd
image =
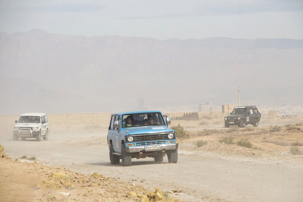
[[[252,124],[254,127],[258,127],[261,114],[256,106],[242,106],[234,107],[234,110],[230,113],[230,116],[224,117],[225,127],[231,125],[238,125],[243,128],[247,124]]]

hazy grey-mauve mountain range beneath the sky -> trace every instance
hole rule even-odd
[[[37,99],[49,104],[62,100],[62,106],[58,107],[65,113],[72,113],[75,106],[85,112],[87,105],[91,110],[99,105],[98,112],[136,108],[137,98],[144,98],[146,105],[155,107],[169,103],[203,104],[205,100],[230,104],[238,100],[234,95],[238,86],[242,91],[250,89],[241,95],[243,103],[271,99],[279,103],[279,93],[284,91],[278,89],[291,90],[291,86],[298,93],[294,92],[293,97],[288,94],[283,103],[302,103],[299,93],[303,89],[302,42],[230,38],[161,41],[60,35],[38,29],[11,35],[0,32],[0,78],[2,86],[10,88],[0,90],[5,103],[0,114],[19,111],[24,106],[35,108],[37,104],[32,103]],[[31,85],[24,85],[26,82]],[[16,100],[31,94],[34,83],[39,83],[34,88],[36,94],[43,94],[45,89],[52,96],[43,94],[47,99],[36,96],[16,108]],[[271,94],[271,88],[277,91]],[[60,93],[62,89],[67,93]],[[214,96],[209,89],[221,93]],[[117,95],[125,101],[121,103]],[[72,107],[69,103],[77,104]],[[39,108],[44,109],[43,104]]]

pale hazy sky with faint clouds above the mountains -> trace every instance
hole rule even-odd
[[[0,31],[203,39],[303,39],[303,0],[0,0]]]

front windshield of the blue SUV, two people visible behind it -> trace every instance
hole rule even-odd
[[[150,125],[165,125],[159,112],[122,115],[122,128]]]

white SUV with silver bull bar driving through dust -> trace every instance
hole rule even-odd
[[[36,141],[48,140],[49,123],[44,113],[25,113],[21,114],[19,120],[15,121],[13,130],[14,140],[17,141],[21,137],[22,141],[28,138],[36,138]]]

